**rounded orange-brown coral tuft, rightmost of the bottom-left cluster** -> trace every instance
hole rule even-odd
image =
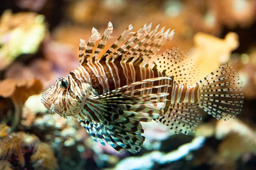
[[[55,170],[58,168],[52,148],[43,142],[36,145],[35,152],[31,156],[31,162],[33,167],[37,167],[40,170]]]

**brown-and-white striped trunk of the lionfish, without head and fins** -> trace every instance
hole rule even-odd
[[[83,83],[90,84],[92,88],[98,93],[103,94],[105,92],[109,92],[113,89],[117,89],[121,86],[125,86],[136,81],[141,81],[149,78],[156,77],[165,77],[164,73],[158,72],[156,69],[148,69],[145,67],[134,66],[132,64],[127,63],[113,63],[109,62],[105,63],[89,63],[83,64],[79,66],[76,70],[70,73],[68,76],[71,84],[77,84],[79,90],[72,90],[73,93],[77,93],[80,101],[83,99]],[[81,84],[81,85],[79,85]],[[151,89],[148,91],[142,91],[134,93],[134,95],[145,95],[150,93],[160,93],[166,92],[170,95],[166,96],[166,99],[169,101],[164,102],[165,107],[163,107],[162,112],[168,112],[168,108],[170,104],[181,103],[181,102],[189,102],[189,103],[197,103],[199,98],[199,90],[198,84],[194,85],[184,85],[178,84],[172,80],[162,80],[155,81],[154,84],[142,84],[136,86],[134,89],[146,88],[150,86],[159,86],[159,85],[170,85],[164,86],[158,89]],[[71,88],[71,87],[70,87]],[[76,88],[74,88],[76,89]],[[129,89],[127,89],[129,90]],[[68,93],[66,95],[69,95]],[[74,97],[75,98],[75,97]],[[93,114],[93,110],[88,110],[91,108],[90,104],[87,104],[87,110],[84,112],[79,112],[79,114],[75,115],[76,118],[85,119],[88,117],[91,120],[90,112]],[[94,107],[92,107],[94,108]],[[68,108],[67,108],[68,109]],[[68,114],[69,116],[70,114]],[[93,120],[97,121],[97,120]]]

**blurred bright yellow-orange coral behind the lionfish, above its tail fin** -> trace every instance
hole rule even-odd
[[[227,63],[230,53],[239,46],[238,35],[228,33],[224,39],[199,32],[194,36],[194,49],[191,54],[200,72],[199,79],[212,72],[220,65]]]

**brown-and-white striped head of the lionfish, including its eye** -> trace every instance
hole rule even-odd
[[[76,115],[82,104],[74,88],[70,83],[69,76],[61,77],[54,86],[47,88],[42,95],[41,102],[51,114],[58,113],[64,118]]]

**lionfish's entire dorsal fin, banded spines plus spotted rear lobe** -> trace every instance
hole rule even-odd
[[[133,36],[125,40],[133,29],[132,25],[128,26],[104,55],[100,53],[113,32],[113,25],[111,22],[108,23],[108,27],[105,29],[94,53],[93,46],[95,46],[97,40],[100,40],[100,35],[97,29],[93,28],[87,46],[84,40],[80,42],[80,58],[83,57],[82,52],[85,50],[84,60],[81,59],[80,63],[89,61],[90,57],[92,57],[91,62],[99,61],[99,56],[102,56],[101,62],[129,62],[137,66],[157,69],[158,72],[173,77],[177,83],[189,85],[196,83],[198,71],[186,52],[174,47],[173,49],[167,49],[162,55],[157,55],[163,44],[172,39],[174,30],[170,32],[170,29],[168,29],[164,32],[165,27],[163,27],[160,31],[157,31],[158,25],[151,31],[151,27],[152,24],[148,26],[145,24]],[[125,43],[120,46],[123,42]]]

